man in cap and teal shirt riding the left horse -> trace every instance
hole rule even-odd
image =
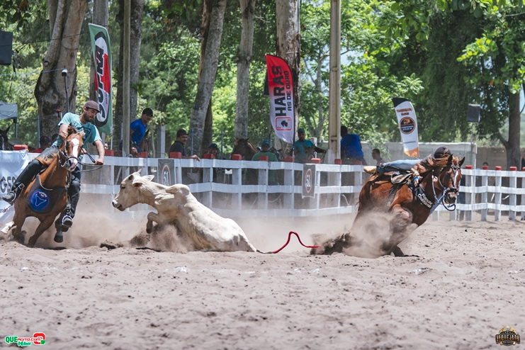
[[[82,137],[82,140],[84,140],[84,146],[83,146],[83,152],[85,151],[85,147],[88,143],[93,143],[96,146],[96,150],[98,151],[98,159],[96,159],[95,164],[96,165],[103,165],[104,164],[104,145],[101,141],[101,137],[98,134],[98,130],[96,129],[95,125],[93,125],[93,120],[96,116],[96,113],[99,112],[98,109],[98,103],[95,101],[87,101],[84,103],[84,107],[82,108],[81,115],[73,114],[73,113],[66,113],[62,117],[62,120],[60,120],[60,123],[58,125],[60,126],[60,131],[58,132],[59,137],[55,142],[53,142],[51,147],[48,147],[40,154],[40,156],[36,159],[33,159],[28,166],[26,166],[25,169],[18,175],[18,178],[13,184],[13,187],[11,188],[11,192],[6,193],[4,196],[2,196],[2,199],[9,204],[12,204],[16,196],[18,196],[23,188],[26,188],[26,186],[29,185],[31,180],[38,174],[44,166],[47,166],[47,164],[44,163],[44,160],[46,158],[55,157],[55,154],[58,154],[58,147],[62,145],[64,140],[67,138],[67,127],[69,124],[71,124],[74,128],[78,130],[78,132],[84,131],[84,137]],[[81,162],[82,156],[79,157],[79,162]],[[74,171],[71,172],[71,184],[69,185],[68,194],[69,194],[69,201],[67,203],[66,207],[66,213],[64,215],[64,218],[62,218],[62,226],[69,228],[73,225],[73,218],[75,215],[75,210],[77,210],[77,204],[79,203],[79,193],[80,193],[80,168],[77,166]]]

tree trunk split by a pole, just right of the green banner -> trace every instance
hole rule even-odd
[[[144,0],[131,1],[131,32],[130,32],[130,121],[135,120],[137,116],[137,89],[132,86],[139,81],[140,68],[140,42],[142,40],[142,10],[144,9]],[[117,83],[117,101],[115,113],[113,115],[113,149],[119,149],[120,140],[122,140],[121,128],[123,120],[123,55],[124,55],[124,0],[119,0],[119,11],[117,22],[120,26],[120,50],[118,55],[118,83]]]

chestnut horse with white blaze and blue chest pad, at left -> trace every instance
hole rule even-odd
[[[79,133],[69,125],[67,132],[68,136],[60,145],[58,154],[55,154],[49,166],[23,189],[21,196],[18,196],[14,203],[13,226],[16,227],[13,230],[13,239],[23,242],[22,226],[26,218],[33,216],[40,220],[35,234],[29,239],[28,247],[35,246],[38,237],[51,226],[59,214],[55,227],[57,235],[62,236],[62,218],[66,211],[69,173],[76,168],[84,145],[82,141],[84,131]],[[64,231],[67,231],[67,228]]]

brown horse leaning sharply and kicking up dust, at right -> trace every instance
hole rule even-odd
[[[405,256],[398,244],[427,221],[431,210],[441,203],[448,210],[455,208],[463,162],[465,158],[459,160],[452,155],[440,159],[427,157],[417,164],[421,181],[419,186],[414,186],[413,191],[407,183],[393,184],[392,172],[373,174],[361,188],[359,210],[350,232],[325,242],[321,248],[312,249],[312,254],[332,254],[350,247],[363,247],[363,240],[366,239],[360,240],[353,233],[367,220],[377,220],[380,213],[388,213],[389,237],[383,240],[381,247],[373,248],[378,255],[394,253],[395,256]]]

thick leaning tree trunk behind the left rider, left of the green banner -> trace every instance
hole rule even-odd
[[[49,0],[47,9],[50,18],[50,45],[43,60],[43,72],[40,72],[35,86],[35,98],[40,115],[41,135],[58,132],[57,109],[67,109],[66,90],[62,69],[67,68],[67,99],[69,111],[75,112],[77,98],[77,50],[80,30],[87,0]],[[57,69],[53,72],[53,69]]]

